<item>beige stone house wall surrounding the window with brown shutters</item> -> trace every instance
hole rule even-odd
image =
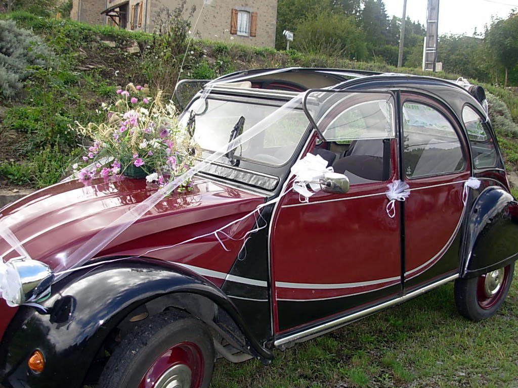
[[[147,31],[152,32],[156,13],[161,7],[166,6],[174,9],[180,3],[179,0],[147,0],[149,11],[147,20]],[[189,14],[192,6],[196,11],[191,19],[194,28],[196,19],[202,10],[204,0],[187,0],[184,14]],[[257,36],[231,35],[231,13],[232,9],[257,12]],[[202,39],[222,40],[256,47],[275,46],[275,27],[277,24],[277,0],[212,0],[203,8],[197,28],[193,31],[196,36]]]

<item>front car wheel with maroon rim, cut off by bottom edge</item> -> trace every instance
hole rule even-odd
[[[183,311],[167,311],[143,320],[122,339],[97,388],[207,388],[213,367],[207,325]]]

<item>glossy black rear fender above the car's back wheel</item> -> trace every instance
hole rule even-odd
[[[518,258],[518,203],[497,186],[485,188],[468,215],[462,277],[476,277]]]

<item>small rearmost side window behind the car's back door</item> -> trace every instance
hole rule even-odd
[[[495,142],[484,125],[484,119],[473,108],[465,106],[462,121],[468,132],[474,167],[495,167],[498,161]]]

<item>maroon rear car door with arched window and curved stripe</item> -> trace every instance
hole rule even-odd
[[[405,201],[405,290],[457,272],[464,183],[470,176],[465,137],[447,107],[401,95]]]

